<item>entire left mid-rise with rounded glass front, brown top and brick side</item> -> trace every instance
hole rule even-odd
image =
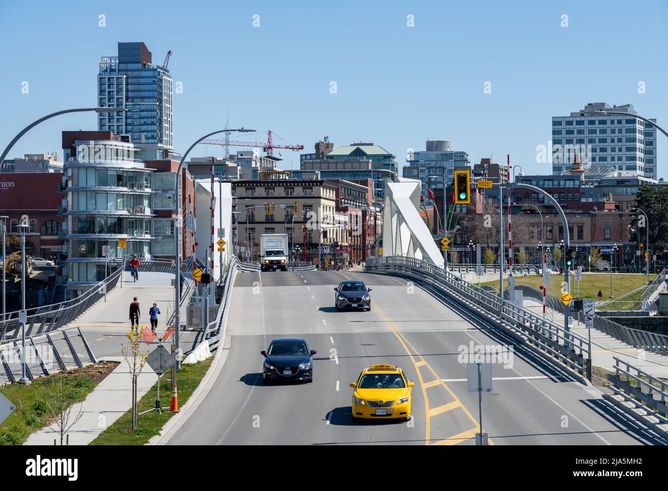
[[[174,258],[176,160],[138,160],[134,145],[111,132],[63,132],[65,174],[58,214],[65,217],[62,275],[70,297],[79,295],[137,255]],[[182,208],[194,212],[194,181],[182,170]],[[207,209],[208,211],[208,209]],[[126,239],[122,248],[120,239]],[[109,255],[104,255],[104,247]],[[184,234],[182,255],[192,249]]]

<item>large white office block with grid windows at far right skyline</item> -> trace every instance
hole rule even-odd
[[[601,111],[626,112],[629,116],[596,114]],[[656,179],[657,130],[631,114],[637,114],[632,104],[597,102],[570,116],[554,116],[552,174],[568,170],[577,152],[585,167],[611,166],[617,177]]]

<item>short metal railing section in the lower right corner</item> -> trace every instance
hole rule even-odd
[[[663,438],[668,438],[668,383],[614,357],[615,373],[608,373],[612,394],[603,397],[643,423]]]

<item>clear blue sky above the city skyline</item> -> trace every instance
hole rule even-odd
[[[550,139],[551,116],[631,103],[668,126],[667,22],[661,0],[3,1],[0,147],[40,116],[96,104],[100,57],[116,55],[117,41],[144,41],[154,63],[174,51],[180,152],[223,128],[228,108],[232,128],[271,129],[305,152],[323,136],[375,142],[403,166],[407,149],[430,138],[452,140],[472,162],[510,153],[524,172],[550,173],[535,148]],[[42,124],[9,157],[60,152],[61,130],[78,129],[96,129],[94,114]],[[668,146],[657,140],[668,178]],[[194,155],[206,152],[222,148]],[[285,168],[299,166],[299,152],[281,153]]]

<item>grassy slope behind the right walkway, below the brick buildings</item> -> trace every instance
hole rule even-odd
[[[570,293],[573,296],[577,295],[578,286],[577,282],[573,279],[573,273],[570,273]],[[528,276],[515,276],[515,285],[528,285],[539,289],[538,287],[542,286],[542,275],[528,275]],[[655,277],[650,277],[654,279]],[[547,285],[547,293],[558,297],[561,295],[561,283],[564,281],[563,274],[554,273],[550,275],[550,284]],[[580,298],[582,299],[598,299],[597,295],[599,290],[603,291],[603,300],[609,301],[614,300],[629,291],[633,291],[638,287],[645,285],[647,282],[646,275],[639,275],[637,273],[624,273],[624,274],[613,274],[613,299],[610,297],[610,274],[606,273],[585,273],[582,275],[580,280]],[[508,287],[508,279],[504,279],[504,289]],[[499,282],[495,281],[486,281],[482,285],[488,285],[498,289]],[[635,294],[634,294],[635,295]],[[640,295],[640,293],[639,293]],[[640,296],[638,297],[638,299]],[[623,299],[627,301],[627,299]],[[635,299],[629,297],[629,305],[633,303]]]

